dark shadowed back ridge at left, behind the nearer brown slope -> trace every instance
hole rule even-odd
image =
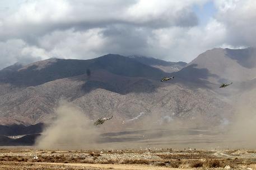
[[[55,79],[85,74],[87,69],[92,72],[97,69],[105,69],[114,74],[151,79],[157,79],[165,75],[160,69],[139,63],[125,56],[108,54],[90,60],[48,59],[26,65],[24,68],[11,72],[1,70],[0,82],[16,86],[38,86]]]

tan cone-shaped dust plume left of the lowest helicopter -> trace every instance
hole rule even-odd
[[[99,133],[93,122],[72,103],[60,101],[54,122],[36,140],[42,149],[94,148]]]

